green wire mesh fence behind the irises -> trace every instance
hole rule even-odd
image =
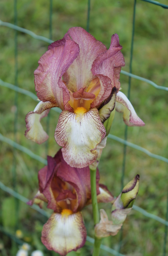
[[[140,0],[139,0],[140,1]],[[156,1],[150,1],[150,0],[141,0],[144,2],[149,2],[150,4],[155,4],[158,7],[162,7],[164,9],[168,9],[168,5],[165,4],[161,4],[158,3]],[[37,100],[37,96],[32,93],[29,92],[25,89],[19,88],[18,87],[18,43],[17,43],[17,36],[18,36],[18,32],[22,32],[25,33],[29,36],[32,36],[33,38],[37,39],[37,40],[41,40],[47,43],[52,43],[52,8],[53,8],[53,1],[50,0],[50,12],[49,12],[49,38],[46,38],[44,36],[39,36],[36,35],[34,32],[25,29],[25,28],[21,28],[17,26],[17,0],[14,0],[14,24],[8,23],[8,22],[3,22],[2,20],[0,20],[0,26],[5,26],[11,29],[15,30],[15,37],[14,37],[14,45],[15,45],[15,79],[14,79],[14,84],[10,84],[7,82],[4,82],[3,80],[0,79],[0,85],[6,88],[9,88],[10,90],[15,91],[15,106],[18,106],[18,93],[24,94],[27,97],[32,98],[33,100]],[[132,74],[132,59],[133,59],[133,46],[134,46],[134,31],[135,31],[135,17],[136,17],[136,0],[134,1],[134,10],[133,10],[133,25],[132,25],[132,40],[131,40],[131,51],[130,51],[130,65],[129,65],[129,72],[126,71],[121,71],[121,73],[123,75],[129,76],[129,86],[128,86],[128,99],[130,97],[130,91],[131,91],[131,79],[137,79],[137,80],[141,80],[145,83],[148,83],[150,85],[152,85],[153,87],[155,87],[158,90],[163,90],[166,92],[168,92],[168,87],[164,87],[164,86],[160,86],[157,85],[156,83],[154,83],[153,81],[150,81],[149,79],[143,78],[141,76],[137,76],[135,74]],[[87,18],[87,30],[89,31],[89,19],[90,19],[90,0],[88,0],[88,18]],[[58,108],[53,108],[53,111],[56,111],[58,113],[61,112],[60,109]],[[20,200],[24,203],[28,202],[28,199],[25,198],[24,196],[20,195],[19,193],[17,193],[17,188],[16,188],[16,159],[15,159],[15,150],[20,150],[22,152],[24,152],[25,154],[29,155],[31,158],[41,162],[42,164],[47,164],[46,159],[42,158],[41,156],[36,155],[35,153],[33,153],[30,149],[25,148],[24,146],[20,145],[17,143],[17,137],[16,137],[16,133],[17,133],[17,117],[18,117],[18,112],[15,112],[15,122],[14,122],[14,140],[10,140],[9,138],[3,136],[2,134],[0,134],[0,140],[9,144],[12,148],[14,148],[13,154],[13,168],[12,168],[12,176],[13,176],[13,189],[5,186],[2,182],[0,182],[0,188],[5,191],[6,193],[10,194],[11,196],[15,197],[17,200]],[[47,129],[49,129],[49,119],[50,116],[47,117]],[[127,147],[131,147],[134,148],[136,150],[139,150],[141,152],[143,152],[144,154],[148,155],[149,157],[158,159],[160,161],[163,161],[165,163],[168,163],[168,158],[165,158],[163,156],[160,155],[156,155],[151,153],[149,150],[142,148],[136,144],[133,144],[129,141],[127,141],[127,137],[128,137],[128,128],[127,126],[125,126],[125,133],[124,133],[124,140],[109,134],[108,138],[112,139],[112,140],[116,140],[120,143],[123,144],[123,163],[122,163],[122,177],[121,177],[121,187],[123,187],[123,181],[124,181],[124,175],[125,175],[125,162],[126,162],[126,155],[127,155]],[[48,145],[46,144],[46,153],[48,150]],[[17,208],[17,200],[16,200],[16,208]],[[168,196],[167,196],[167,200],[168,200]],[[29,207],[29,206],[28,206]],[[36,205],[32,205],[30,206],[32,207],[34,210],[38,211],[39,213],[41,213],[42,215],[49,217],[49,213],[47,213],[46,211],[40,209],[38,206]],[[140,212],[141,214],[143,214],[145,217],[147,218],[151,218],[154,219],[160,223],[162,223],[163,225],[165,225],[165,232],[164,232],[164,246],[163,246],[163,256],[166,255],[166,241],[167,241],[167,227],[168,227],[168,204],[166,206],[166,216],[165,216],[165,220],[160,218],[159,216],[156,216],[152,213],[149,213],[147,211],[145,211],[144,209],[134,205],[133,209]],[[17,215],[17,211],[16,211],[16,215]],[[19,240],[16,236],[11,235],[9,232],[7,232],[3,227],[0,227],[0,231],[3,232],[4,234],[6,234],[7,236],[10,236],[11,239],[13,239],[16,243],[18,244],[22,244],[22,241]],[[122,240],[122,235],[121,235],[121,240]],[[94,243],[94,239],[87,236],[87,241],[90,243]],[[105,246],[105,245],[101,245],[101,249],[109,252],[112,255],[118,255],[118,256],[124,256],[123,254],[120,253],[120,247],[118,248],[118,252]]]

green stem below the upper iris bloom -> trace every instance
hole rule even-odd
[[[90,168],[90,184],[91,184],[91,196],[92,196],[92,208],[93,208],[93,219],[94,225],[99,223],[99,209],[97,203],[97,192],[96,192],[96,169]],[[94,237],[94,249],[92,256],[99,256],[101,240],[98,237]]]

